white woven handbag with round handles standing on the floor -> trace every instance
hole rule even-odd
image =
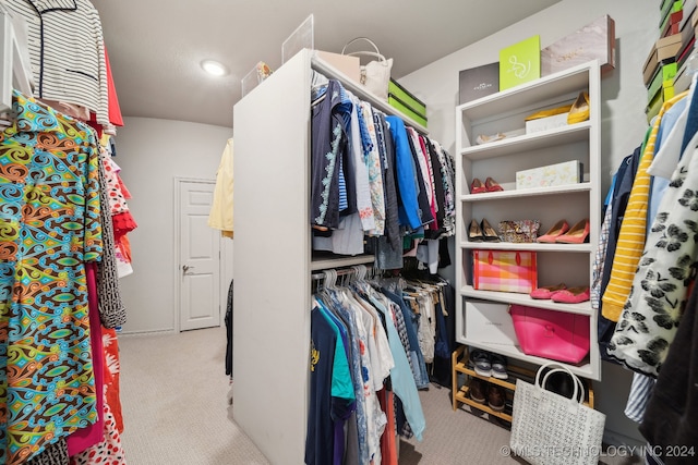
[[[540,382],[541,372],[551,368]],[[573,378],[571,399],[545,389],[554,372]],[[597,465],[606,416],[582,404],[583,384],[569,368],[546,364],[535,384],[516,380],[512,418],[512,454],[534,465]]]

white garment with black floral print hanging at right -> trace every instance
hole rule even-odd
[[[691,144],[698,143],[694,136]],[[609,355],[626,367],[657,377],[666,357],[693,282],[698,254],[691,186],[698,183],[698,157],[688,145],[647,236]]]

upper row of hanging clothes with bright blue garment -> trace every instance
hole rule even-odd
[[[368,252],[378,267],[396,269],[406,250],[402,238],[455,233],[455,163],[438,144],[334,79],[314,85],[312,114],[315,250]],[[422,254],[432,269],[437,252],[435,243]]]

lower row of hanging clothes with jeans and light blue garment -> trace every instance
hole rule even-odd
[[[429,383],[425,369],[416,369],[416,360],[421,357],[419,347],[418,330],[408,335],[407,322],[411,325],[413,310],[405,303],[404,297],[393,294],[385,289],[378,289],[376,283],[369,283],[363,280],[351,280],[349,283],[336,286],[326,283],[324,289],[313,295],[311,328],[311,413],[309,415],[309,432],[306,438],[306,463],[317,462],[317,456],[323,454],[326,460],[332,455],[332,463],[385,463],[393,462],[397,456],[395,451],[395,440],[388,438],[388,431],[400,431],[402,436],[416,436],[422,438],[425,423],[419,395],[417,393],[417,379],[423,377],[424,387]],[[431,295],[435,289],[421,290],[420,297]],[[410,297],[411,298],[411,297]],[[401,305],[400,305],[401,304]],[[426,302],[423,305],[428,305]],[[421,309],[420,309],[421,310]],[[405,313],[407,311],[407,314]],[[324,320],[318,320],[322,315]],[[327,329],[326,321],[332,321],[339,333],[347,334],[348,342],[340,345],[335,328]],[[429,323],[426,323],[429,325]],[[402,329],[399,329],[402,328]],[[334,335],[333,335],[334,334]],[[330,343],[327,343],[329,338]],[[358,347],[353,346],[352,339],[359,342]],[[346,380],[346,374],[351,377],[353,393],[356,399],[356,411],[351,417],[328,414],[335,403],[327,404],[327,387],[321,389],[323,381],[313,371],[315,365],[321,363],[329,364],[328,357],[323,360],[323,352],[317,350],[317,343],[325,341],[324,352],[334,351],[334,354],[346,355],[348,368],[339,368],[334,375],[325,374],[322,379],[326,382],[333,376],[338,376]],[[334,344],[334,345],[333,345]],[[414,345],[412,345],[414,344]],[[330,347],[330,348],[327,348]],[[344,355],[341,353],[344,351]],[[413,351],[410,356],[409,353]],[[358,356],[357,356],[358,353]],[[420,355],[418,355],[418,353]],[[325,365],[326,367],[328,365]],[[340,364],[340,366],[344,366]],[[423,359],[422,359],[423,366]],[[357,388],[357,379],[359,380]],[[339,384],[338,384],[339,386]],[[393,412],[394,404],[386,402],[386,389],[395,392],[400,406],[400,411]],[[348,388],[346,391],[350,391]],[[316,399],[324,392],[324,399]],[[345,397],[349,400],[347,395]],[[363,406],[362,406],[363,403]],[[347,404],[348,405],[348,404]],[[363,408],[363,413],[361,412]],[[318,412],[324,412],[324,417],[318,417]],[[346,409],[345,409],[346,412]],[[328,416],[329,415],[329,416]],[[402,429],[398,417],[402,415],[406,419]],[[334,418],[330,424],[328,418]],[[337,419],[340,418],[339,428]],[[364,423],[365,421],[365,423]],[[313,423],[313,425],[311,425]],[[347,436],[342,440],[337,431],[345,430]],[[330,429],[335,428],[335,435],[330,435]],[[317,443],[322,439],[324,449],[318,450]],[[345,444],[341,455],[338,455],[337,444]],[[390,445],[393,444],[393,445]],[[393,448],[393,449],[392,449]],[[311,450],[312,449],[312,450]],[[368,455],[366,455],[368,454]],[[313,462],[314,461],[314,462]],[[329,463],[329,462],[324,462]]]

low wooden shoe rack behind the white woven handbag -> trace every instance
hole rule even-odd
[[[507,412],[508,408],[505,407],[504,412],[496,412],[486,404],[481,404],[479,402],[473,401],[470,397],[470,390],[468,388],[469,381],[472,378],[479,378],[491,384],[496,384],[504,388],[505,392],[507,393],[506,396],[507,396],[507,403],[508,403],[514,399],[514,393],[516,391],[516,379],[520,378],[522,380],[533,383],[535,380],[535,372],[529,369],[526,369],[524,367],[518,367],[516,365],[508,365],[507,372],[509,374],[509,379],[507,380],[480,376],[473,369],[469,368],[468,351],[466,346],[462,346],[462,345],[454,351],[450,358],[452,358],[452,367],[453,367],[453,387],[452,387],[453,389],[450,393],[452,393],[452,403],[453,403],[454,411],[457,411],[458,408],[460,408],[461,405],[465,404],[478,411],[484,412],[491,416],[495,416],[497,418],[502,418],[503,420],[512,423],[512,415],[509,412]],[[462,384],[460,383],[458,374],[466,375],[466,382],[464,382]],[[592,384],[591,382],[588,382],[585,380],[582,380],[582,382],[585,382],[587,388],[587,397],[585,399],[585,405],[593,408]]]

